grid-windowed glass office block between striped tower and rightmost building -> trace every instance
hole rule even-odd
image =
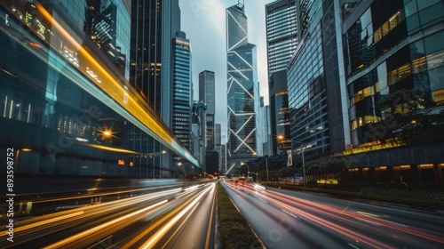
[[[341,12],[336,1],[297,1],[299,44],[289,62],[291,148],[310,155],[338,153],[349,141],[341,78]],[[338,34],[337,34],[338,32]]]

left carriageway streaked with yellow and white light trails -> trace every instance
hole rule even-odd
[[[2,225],[0,248],[210,248],[215,183],[158,189],[134,197]]]

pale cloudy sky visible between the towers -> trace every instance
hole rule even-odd
[[[260,95],[268,104],[266,67],[266,4],[275,0],[240,0],[248,19],[249,43],[257,45]],[[216,123],[226,136],[226,8],[238,0],[180,0],[181,29],[190,40],[194,100],[198,100],[199,73],[213,71],[216,78]],[[222,138],[222,144],[225,143]]]

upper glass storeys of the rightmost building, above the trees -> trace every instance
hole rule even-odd
[[[361,6],[365,10],[359,18],[350,15],[345,22],[345,75],[353,147],[394,140],[386,132],[389,128],[384,132],[375,127],[390,127],[392,116],[405,112],[402,105],[405,109],[406,103],[415,102],[415,108],[432,113],[439,113],[444,104],[444,45],[440,42],[444,37],[440,26],[444,1],[397,0],[386,4],[375,0]],[[377,12],[378,8],[385,8],[385,12]],[[396,101],[397,107],[378,104],[400,91],[416,93],[404,93]]]

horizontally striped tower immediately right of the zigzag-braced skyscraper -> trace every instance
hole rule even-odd
[[[266,4],[266,48],[273,154],[291,149],[287,64],[297,47],[296,0]]]

